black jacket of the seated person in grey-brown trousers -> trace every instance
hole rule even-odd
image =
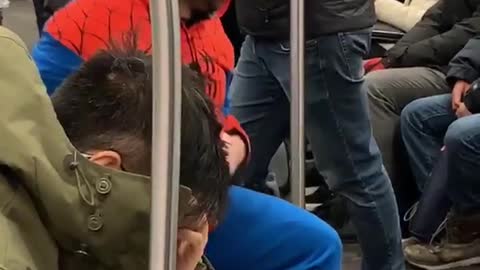
[[[480,34],[480,0],[440,0],[384,58],[386,67],[446,68]]]

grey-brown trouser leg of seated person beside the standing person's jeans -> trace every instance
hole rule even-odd
[[[373,136],[383,156],[385,168],[394,189],[399,181],[400,168],[395,149],[400,140],[400,113],[415,99],[448,93],[445,76],[436,70],[415,67],[386,69],[366,76],[368,103],[372,119]]]

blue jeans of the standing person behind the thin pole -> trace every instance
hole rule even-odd
[[[343,195],[358,231],[363,269],[404,269],[397,206],[371,134],[362,57],[370,31],[306,42],[305,124],[316,165]],[[231,113],[250,136],[244,179],[262,185],[289,134],[288,42],[247,36],[231,85]]]

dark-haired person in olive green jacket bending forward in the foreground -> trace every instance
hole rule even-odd
[[[100,52],[50,101],[18,36],[0,27],[0,46],[0,269],[147,270],[149,60]],[[201,258],[231,177],[214,107],[183,75],[182,128],[195,136],[181,137],[177,269],[212,269]]]

